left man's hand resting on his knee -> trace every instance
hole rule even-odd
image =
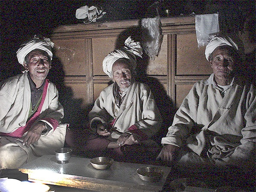
[[[37,122],[33,125],[29,131],[27,132],[26,136],[24,137],[22,145],[29,146],[30,144],[33,145],[36,141],[39,140],[41,137],[42,131],[45,129],[45,124],[42,121]]]

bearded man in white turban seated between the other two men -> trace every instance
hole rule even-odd
[[[154,154],[159,148],[151,137],[160,129],[160,113],[148,86],[134,80],[140,43],[129,37],[125,45],[103,60],[103,70],[114,83],[96,99],[89,113],[90,133],[81,146],[95,156],[116,154],[116,160],[155,159],[160,150]]]

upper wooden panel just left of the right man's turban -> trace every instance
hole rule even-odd
[[[196,34],[177,35],[177,75],[207,75],[212,73],[204,55],[205,47],[198,49]]]

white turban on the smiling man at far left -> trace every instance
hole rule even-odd
[[[18,61],[23,65],[26,55],[35,49],[46,51],[52,60],[52,47],[54,47],[54,43],[49,38],[44,38],[44,40],[33,38],[28,43],[21,45],[20,49],[17,50]]]

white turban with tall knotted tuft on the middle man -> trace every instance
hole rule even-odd
[[[142,48],[140,47],[140,42],[134,42],[131,36],[125,40],[125,47],[123,49],[115,49],[113,52],[109,53],[102,61],[103,71],[112,78],[112,66],[115,61],[119,58],[127,58],[131,61],[133,69],[137,66],[136,56],[142,58]]]

